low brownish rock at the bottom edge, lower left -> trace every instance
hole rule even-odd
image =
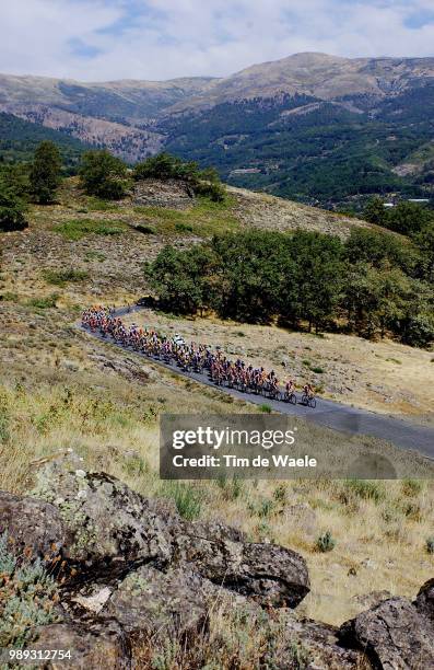
[[[103,624],[87,623],[85,627],[71,623],[59,623],[34,629],[36,642],[28,645],[36,651],[57,649],[71,651],[70,659],[47,661],[44,668],[70,668],[90,670],[109,668],[129,670],[131,648],[127,636],[115,621]]]

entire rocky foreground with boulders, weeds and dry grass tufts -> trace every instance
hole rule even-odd
[[[35,467],[27,496],[0,493],[3,646],[71,649],[62,667],[83,669],[432,666],[434,580],[325,625],[297,614],[310,581],[291,548],[186,522],[73,453]]]

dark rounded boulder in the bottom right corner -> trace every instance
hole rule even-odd
[[[390,598],[345,622],[339,639],[365,650],[375,668],[433,668],[433,627],[406,598]]]

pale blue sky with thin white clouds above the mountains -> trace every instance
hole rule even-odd
[[[0,2],[0,71],[103,81],[226,76],[298,51],[434,56],[434,0]]]

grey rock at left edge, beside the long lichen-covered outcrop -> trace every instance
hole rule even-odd
[[[16,556],[30,552],[46,563],[55,561],[66,540],[59,510],[35,498],[0,492],[0,534],[7,532]]]

